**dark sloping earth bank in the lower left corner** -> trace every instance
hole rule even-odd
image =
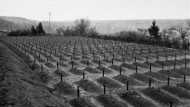
[[[0,106],[67,107],[49,92],[37,71],[0,42]]]

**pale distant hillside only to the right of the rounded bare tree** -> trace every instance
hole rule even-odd
[[[185,20],[156,20],[160,29],[171,27],[185,23]],[[123,30],[137,30],[138,28],[148,29],[152,24],[152,20],[108,20],[108,21],[92,21],[92,25],[102,33],[115,33]]]

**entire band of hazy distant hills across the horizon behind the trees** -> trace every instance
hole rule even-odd
[[[21,17],[7,17],[0,16],[0,18],[7,20],[9,22],[14,22],[19,25],[17,28],[30,28],[32,25],[36,26],[39,22],[35,20],[29,20]],[[156,20],[158,26],[162,28],[168,28],[171,25],[177,25],[180,23],[185,23],[186,20]],[[97,31],[100,33],[115,33],[123,30],[137,30],[137,28],[147,29],[152,23],[152,20],[91,20],[91,26],[96,27]],[[46,32],[49,31],[49,22],[42,21],[44,29]],[[56,32],[57,28],[63,26],[72,26],[73,21],[52,21],[51,22],[51,32]]]

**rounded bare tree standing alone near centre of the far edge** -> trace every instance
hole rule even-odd
[[[75,20],[75,30],[77,31],[79,36],[86,36],[87,31],[90,28],[90,21],[88,19],[78,19]]]

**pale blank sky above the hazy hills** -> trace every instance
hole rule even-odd
[[[64,21],[189,19],[190,0],[0,0],[0,16]]]

